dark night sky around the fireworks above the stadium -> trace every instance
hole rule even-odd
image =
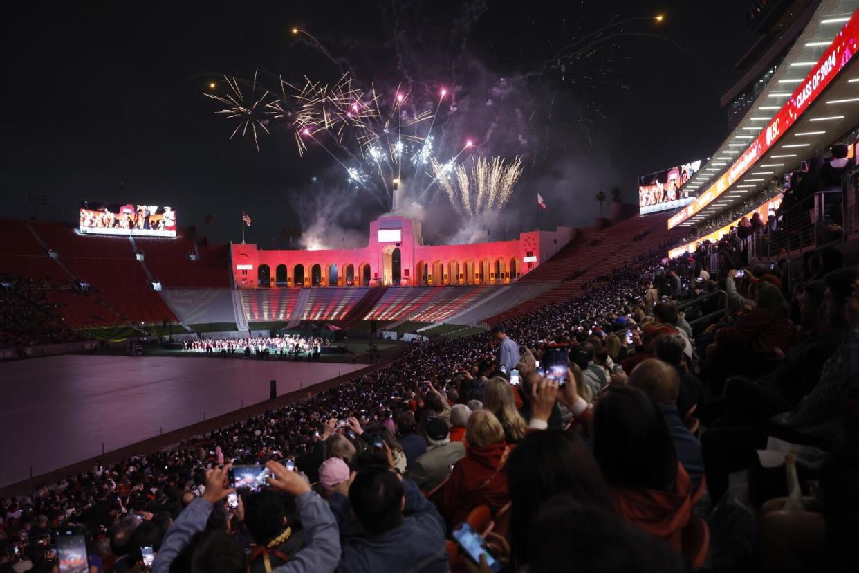
[[[15,3],[3,27],[0,215],[76,223],[82,200],[168,204],[180,226],[228,241],[241,240],[244,209],[247,241],[262,247],[285,247],[283,229],[314,222],[332,245],[356,241],[383,201],[350,189],[321,149],[299,157],[283,125],[260,138],[260,153],[247,137],[229,141],[234,125],[201,94],[212,81],[224,89],[221,74],[250,78],[259,68],[265,81],[333,82],[344,67],[387,93],[399,82],[416,95],[449,86],[457,112],[439,116],[449,142],[475,137],[479,155],[523,156],[525,174],[491,238],[533,228],[537,192],[550,206],[544,229],[587,224],[596,192],[619,186],[637,201],[638,175],[716,149],[727,129],[719,99],[755,38],[749,0],[561,4]],[[576,37],[656,14],[665,21],[622,29],[664,38],[620,37],[563,77],[544,71]],[[292,27],[338,64],[296,41]],[[499,86],[507,91],[493,98]],[[31,193],[48,204],[28,203]],[[423,207],[426,242],[459,229],[442,192]]]

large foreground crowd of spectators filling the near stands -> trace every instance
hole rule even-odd
[[[856,533],[859,271],[789,298],[777,268],[744,271],[637,259],[573,301],[0,500],[0,571],[51,571],[50,532],[70,524],[98,571],[145,570],[149,546],[155,571],[500,570],[454,541],[463,522],[509,571],[840,569]],[[792,523],[803,543],[775,557],[756,528],[716,527],[795,493],[784,467],[760,467],[770,436],[826,456],[796,465],[825,533]],[[231,502],[244,465],[265,466],[266,486]]]

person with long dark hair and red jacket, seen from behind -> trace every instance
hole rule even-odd
[[[680,551],[691,485],[661,411],[636,387],[612,385],[594,408],[594,457],[618,514]]]

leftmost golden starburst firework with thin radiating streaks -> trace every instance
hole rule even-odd
[[[229,87],[227,94],[218,95],[204,92],[204,95],[222,104],[223,107],[215,112],[216,115],[226,116],[227,119],[238,119],[238,125],[235,126],[235,130],[229,138],[235,137],[239,131],[244,137],[250,129],[253,134],[253,143],[256,145],[257,153],[259,153],[258,129],[267,134],[269,130],[266,124],[271,119],[284,117],[285,113],[281,107],[282,100],[274,99],[268,89],[263,90],[261,94],[258,92],[257,72],[253,73],[253,82],[247,98],[235,77],[223,76],[223,79]]]

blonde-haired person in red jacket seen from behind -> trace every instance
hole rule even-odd
[[[504,442],[504,430],[492,412],[472,412],[466,425],[466,457],[454,466],[439,497],[442,515],[451,526],[465,521],[478,505],[494,514],[510,501],[507,460],[512,450]]]

